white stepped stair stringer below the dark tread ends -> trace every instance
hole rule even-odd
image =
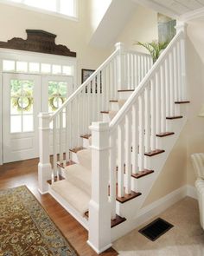
[[[179,139],[182,129],[184,128],[187,117],[183,115],[181,120],[169,121],[172,126],[172,131],[175,132],[174,139],[171,136],[169,138],[159,138],[159,140],[165,140],[167,143],[163,143],[163,148],[165,152],[163,154],[158,154],[153,157],[146,156],[147,164],[150,169],[155,172],[153,174],[147,175],[142,179],[136,180],[132,178],[132,185],[135,187],[135,191],[142,193],[139,197],[134,200],[130,200],[125,204],[120,204],[117,202],[117,213],[125,217],[127,220],[118,226],[112,228],[112,241],[118,240],[118,238],[124,236],[124,234],[131,232],[131,230],[137,228],[141,225],[141,213],[143,213],[143,202],[146,200],[147,196],[150,194],[152,187],[154,186],[159,174],[161,174],[164,164],[167,161],[170,152],[175,146],[176,141]],[[175,123],[174,123],[175,122]]]

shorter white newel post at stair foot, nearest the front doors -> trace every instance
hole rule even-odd
[[[51,180],[51,164],[49,160],[49,119],[48,113],[40,113],[39,117],[39,154],[38,190],[41,194],[48,192],[48,180]]]

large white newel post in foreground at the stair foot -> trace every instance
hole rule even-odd
[[[108,200],[109,125],[92,122],[92,198],[87,243],[97,253],[112,246],[111,205]]]

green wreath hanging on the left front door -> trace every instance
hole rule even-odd
[[[29,111],[33,105],[33,97],[29,91],[22,91],[16,93],[12,98],[12,105],[14,108],[17,108],[17,111]]]

